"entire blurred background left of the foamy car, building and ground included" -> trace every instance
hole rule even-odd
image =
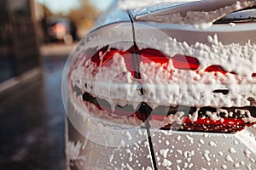
[[[64,169],[61,74],[113,0],[0,1],[0,169]]]

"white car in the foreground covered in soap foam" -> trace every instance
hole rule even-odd
[[[67,169],[256,169],[256,2],[117,1],[62,77]]]

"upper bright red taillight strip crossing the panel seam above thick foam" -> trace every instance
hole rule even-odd
[[[95,62],[97,66],[108,65],[108,62],[113,59],[113,55],[115,53],[119,53],[124,57],[126,68],[129,71],[136,71],[136,68],[134,68],[135,61],[133,61],[132,58],[136,58],[138,63],[141,61],[147,64],[154,62],[160,65],[168,65],[170,59],[159,50],[153,48],[143,48],[140,50],[139,48],[132,46],[127,51],[122,51],[116,48],[108,49],[108,46],[106,46],[96,52],[96,54],[92,56],[91,60]],[[197,70],[200,65],[198,59],[182,54],[174,55],[172,57],[172,64],[177,69],[191,71]]]

